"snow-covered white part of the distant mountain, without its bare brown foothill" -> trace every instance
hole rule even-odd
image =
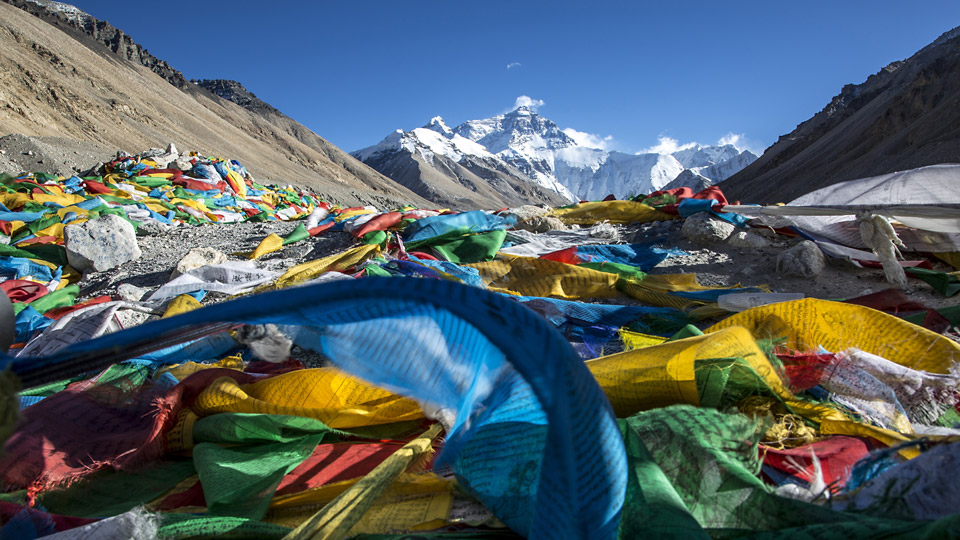
[[[434,164],[437,156],[457,164],[477,158],[487,168],[515,170],[538,188],[567,201],[597,200],[611,193],[618,198],[649,193],[662,189],[685,170],[716,183],[757,159],[732,144],[693,145],[672,154],[627,154],[592,148],[578,144],[527,106],[492,118],[470,120],[452,129],[435,117],[422,128],[397,130],[379,144],[353,152],[353,156],[391,176],[378,163],[390,161],[386,156],[395,152],[418,155],[428,165]],[[494,166],[498,161],[501,165]],[[409,179],[401,183],[413,188]]]

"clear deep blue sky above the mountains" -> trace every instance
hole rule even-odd
[[[759,151],[960,25],[956,0],[79,0],[187,78],[240,81],[344,150],[519,96],[637,152],[661,137]]]

